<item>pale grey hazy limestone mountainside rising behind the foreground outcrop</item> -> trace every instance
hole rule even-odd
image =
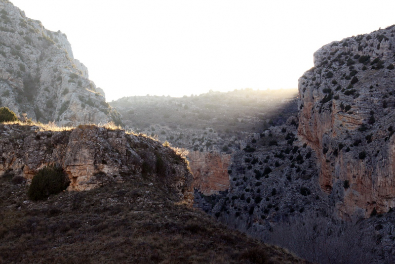
[[[120,123],[119,113],[73,57],[65,34],[0,0],[0,106],[61,126]]]

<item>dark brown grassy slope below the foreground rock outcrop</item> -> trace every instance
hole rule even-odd
[[[24,203],[0,176],[0,263],[306,263],[135,179]]]

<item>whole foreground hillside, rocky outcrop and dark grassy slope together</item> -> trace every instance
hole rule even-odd
[[[74,144],[75,137],[82,142]],[[1,263],[307,263],[193,210],[185,160],[146,136],[109,127],[49,131],[16,124],[0,125],[0,142]],[[125,145],[131,155],[121,155]],[[75,152],[99,161],[93,165],[102,171],[100,180],[73,174],[70,162],[81,159],[67,153]],[[87,188],[29,200],[26,168],[37,171],[49,162],[63,168],[69,190]]]

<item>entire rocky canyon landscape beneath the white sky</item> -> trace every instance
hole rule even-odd
[[[7,0],[0,0],[0,10],[0,106],[22,120],[0,124],[0,240],[7,244],[0,247],[0,262],[27,262],[29,256],[20,252],[34,244],[36,230],[41,240],[53,232],[56,239],[49,240],[55,247],[68,239],[60,234],[64,227],[69,237],[81,239],[70,241],[76,250],[86,241],[95,242],[74,230],[111,233],[115,221],[131,236],[161,236],[160,230],[166,230],[177,241],[188,234],[184,238],[189,241],[189,235],[200,234],[201,243],[210,241],[207,248],[214,243],[211,235],[218,234],[215,243],[230,241],[228,252],[235,252],[225,254],[223,263],[233,257],[250,263],[251,256],[262,252],[277,263],[282,256],[307,263],[240,238],[213,219],[271,243],[278,242],[279,229],[291,232],[282,233],[285,243],[299,239],[292,233],[300,230],[296,227],[305,226],[304,235],[317,235],[319,224],[342,228],[351,223],[358,227],[353,236],[363,243],[353,244],[340,231],[323,232],[325,239],[341,241],[350,252],[366,257],[344,262],[394,261],[394,26],[322,46],[314,54],[315,66],[299,79],[298,90],[210,90],[107,103],[104,91],[74,58],[65,34],[46,30]],[[67,175],[68,191],[37,203],[28,200],[33,177],[52,164]],[[99,224],[101,214],[105,225]],[[44,215],[53,220],[50,230]],[[56,222],[63,219],[61,228]],[[127,227],[130,222],[134,231]],[[123,238],[110,240],[126,252],[131,242]],[[253,245],[255,253],[238,248],[237,240]],[[21,242],[24,250],[9,241]],[[133,255],[134,261],[172,258],[162,244],[142,244],[149,245],[145,252],[151,257]],[[4,253],[6,247],[12,257]],[[49,254],[47,248],[37,251]],[[83,255],[83,250],[77,252]],[[118,261],[128,258],[122,254]]]

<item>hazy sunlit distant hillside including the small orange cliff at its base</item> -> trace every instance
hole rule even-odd
[[[246,137],[296,116],[296,94],[295,89],[246,88],[182,98],[124,97],[110,104],[127,128],[189,150],[194,188],[212,195],[230,188],[231,156],[245,147]]]

